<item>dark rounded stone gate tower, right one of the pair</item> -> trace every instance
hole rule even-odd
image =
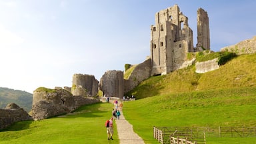
[[[107,71],[101,77],[99,89],[107,97],[123,97],[123,71]]]

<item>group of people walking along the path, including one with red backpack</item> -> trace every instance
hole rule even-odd
[[[118,101],[115,100],[114,101],[114,108],[113,108],[113,111],[112,111],[112,117],[108,120],[109,124],[106,124],[106,127],[107,127],[107,139],[110,140],[112,139],[113,140],[113,121],[115,119],[119,119],[121,113],[120,113],[120,110],[122,110],[123,108],[123,103],[120,103],[118,105]],[[107,122],[106,122],[107,123]]]

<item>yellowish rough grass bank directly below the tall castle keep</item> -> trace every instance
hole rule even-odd
[[[219,69],[203,74],[195,73],[195,65],[192,65],[167,75],[150,77],[125,95],[142,99],[169,93],[253,87],[256,86],[255,63],[256,54],[240,55]]]

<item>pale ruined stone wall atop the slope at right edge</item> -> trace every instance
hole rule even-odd
[[[241,41],[235,45],[221,48],[221,51],[229,51],[237,55],[256,53],[256,36],[252,39]]]

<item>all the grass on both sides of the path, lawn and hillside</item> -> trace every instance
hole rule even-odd
[[[198,74],[187,67],[168,75],[150,77],[127,95],[123,113],[145,143],[156,127],[255,127],[256,54],[241,55],[215,71]],[[0,132],[2,143],[119,143],[107,141],[105,120],[113,105],[97,103],[72,115],[24,121]],[[116,131],[116,129],[115,129]],[[117,137],[117,133],[115,136]],[[210,144],[255,143],[256,137],[212,137]]]

